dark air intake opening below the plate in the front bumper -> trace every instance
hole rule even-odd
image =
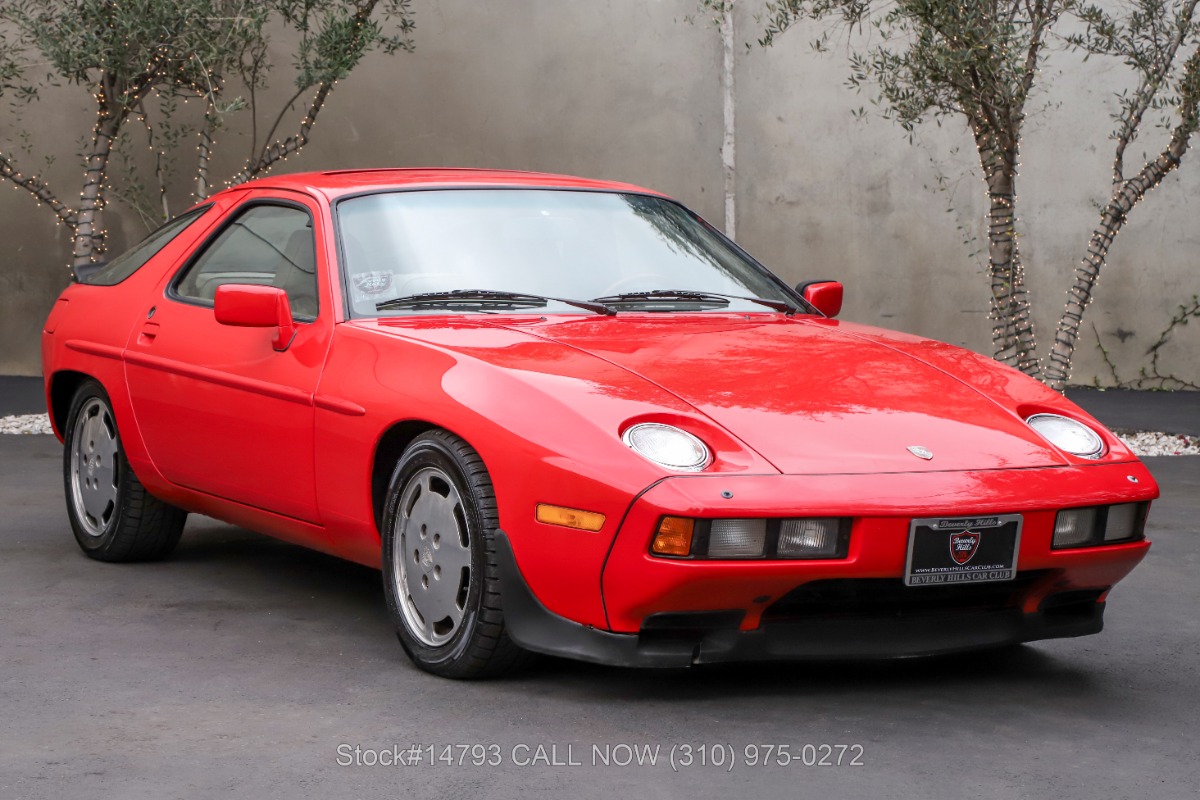
[[[912,616],[1014,608],[1046,572],[1030,570],[1018,572],[1012,581],[934,587],[906,587],[900,578],[812,581],[773,603],[763,613],[763,621]]]

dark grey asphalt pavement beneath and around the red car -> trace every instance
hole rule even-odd
[[[361,566],[203,517],[167,561],[84,558],[59,444],[0,435],[0,798],[1192,798],[1200,457],[1146,461],[1154,546],[1098,636],[902,662],[546,658],[463,684],[409,664]]]

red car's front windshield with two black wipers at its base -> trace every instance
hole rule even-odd
[[[343,200],[337,223],[358,317],[580,313],[554,299],[616,312],[799,306],[698,217],[643,194],[385,192]]]

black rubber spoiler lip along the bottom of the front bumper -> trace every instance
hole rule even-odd
[[[504,531],[496,558],[509,637],[535,652],[620,667],[688,667],[726,661],[894,658],[978,650],[1038,639],[1099,633],[1104,603],[1068,603],[1069,613],[1024,614],[1018,608],[893,618],[806,619],[738,630],[744,613],[665,612],[642,631],[613,633],[554,614],[534,596]],[[1074,597],[1072,600],[1075,600]],[[1079,597],[1082,600],[1082,597]]]

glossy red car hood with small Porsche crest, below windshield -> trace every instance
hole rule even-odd
[[[565,348],[562,357],[570,351],[575,363],[588,356],[602,360],[607,363],[596,363],[593,380],[624,374],[628,384],[632,373],[653,385],[647,390],[673,395],[785,474],[1068,463],[1025,425],[1010,399],[1010,384],[1034,381],[929,339],[779,314],[474,320],[426,326],[407,318],[372,326],[529,374],[554,369],[546,345]],[[486,337],[480,329],[488,327],[506,335],[496,338],[494,347],[481,347]],[[514,348],[539,339],[542,347]],[[518,351],[529,353],[538,363],[517,356]],[[1062,397],[1050,395],[1061,405]],[[922,458],[910,449],[932,457]]]

